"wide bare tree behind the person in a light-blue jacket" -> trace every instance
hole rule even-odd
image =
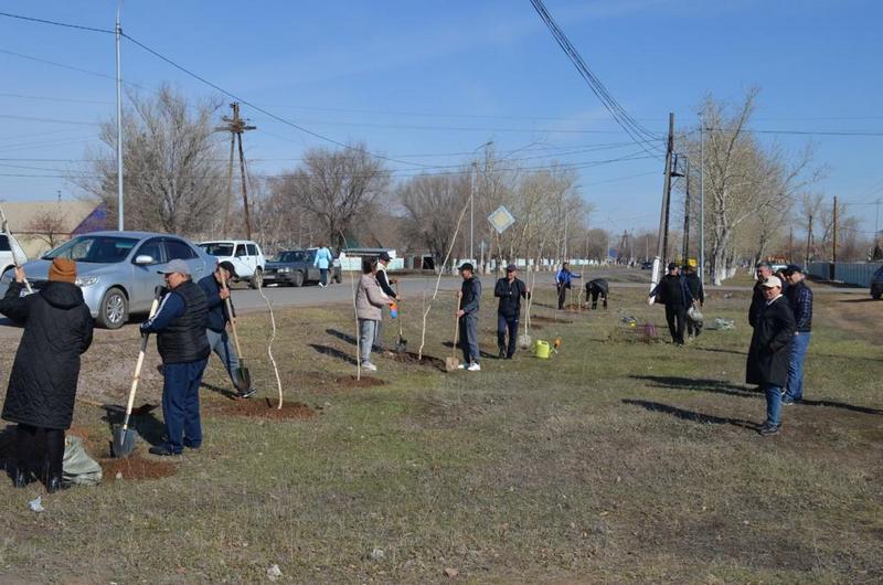
[[[343,245],[357,220],[376,213],[376,202],[390,183],[390,173],[364,145],[341,150],[317,148],[304,155],[302,164],[276,181],[276,193],[290,208],[317,222],[316,237]],[[318,243],[318,241],[317,241]]]

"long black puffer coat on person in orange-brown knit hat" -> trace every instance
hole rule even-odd
[[[9,376],[3,418],[67,429],[74,416],[79,355],[92,344],[92,315],[79,287],[49,283],[24,298],[12,283],[0,312],[24,325]]]

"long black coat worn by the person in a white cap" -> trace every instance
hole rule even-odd
[[[795,330],[794,313],[785,296],[779,295],[769,305],[760,307],[748,349],[746,383],[776,386],[788,383],[788,362]]]

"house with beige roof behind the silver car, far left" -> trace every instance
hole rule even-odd
[[[99,201],[7,201],[9,231],[33,259],[75,235],[107,228],[107,208]]]

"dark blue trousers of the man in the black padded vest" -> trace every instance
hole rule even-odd
[[[200,422],[200,383],[209,359],[189,363],[167,363],[162,366],[162,418],[166,422],[168,446],[181,453],[184,445],[196,448],[202,444]]]

